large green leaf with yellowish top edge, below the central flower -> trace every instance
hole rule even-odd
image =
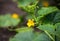
[[[32,41],[34,34],[31,28],[21,28],[20,32],[15,35],[10,41]]]

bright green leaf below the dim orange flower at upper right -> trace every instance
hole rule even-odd
[[[38,15],[40,17],[44,17],[45,15],[55,12],[57,10],[58,9],[56,7],[42,7],[40,10],[38,10]]]

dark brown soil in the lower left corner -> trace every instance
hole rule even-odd
[[[9,41],[9,38],[13,37],[15,34],[15,31],[9,31],[6,28],[0,28],[0,41]]]

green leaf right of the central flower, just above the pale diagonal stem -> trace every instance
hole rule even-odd
[[[55,34],[56,27],[51,24],[43,24],[43,25],[39,25],[37,28],[42,31],[48,31],[50,34]]]

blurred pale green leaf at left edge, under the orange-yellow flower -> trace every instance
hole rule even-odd
[[[20,19],[14,19],[10,14],[0,15],[0,27],[16,26]]]

